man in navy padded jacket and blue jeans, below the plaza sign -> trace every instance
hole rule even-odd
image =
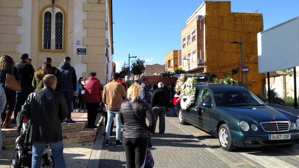
[[[56,72],[57,81],[59,82],[57,85],[57,90],[64,95],[66,105],[68,106],[68,117],[66,124],[76,123],[71,119],[71,112],[73,96],[77,94],[77,76],[75,68],[72,67],[70,63],[71,58],[66,56]]]

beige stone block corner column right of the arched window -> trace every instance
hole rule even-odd
[[[105,46],[106,46],[106,1],[88,0],[83,10],[88,12],[88,19],[83,21],[83,28],[87,28],[87,37],[83,38],[83,45],[87,45],[87,54],[83,55],[83,63],[87,64],[88,77],[90,72],[96,72],[98,79],[105,81]]]

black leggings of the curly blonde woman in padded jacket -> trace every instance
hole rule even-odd
[[[126,168],[141,168],[147,152],[148,138],[123,138]]]

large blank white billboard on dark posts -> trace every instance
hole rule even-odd
[[[259,73],[299,66],[299,16],[257,33]]]

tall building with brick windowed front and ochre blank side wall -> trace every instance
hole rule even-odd
[[[231,69],[241,66],[240,45],[231,42],[242,37],[243,64],[249,61],[249,90],[261,94],[264,74],[258,74],[256,56],[257,33],[261,31],[263,14],[231,12],[230,1],[204,1],[181,32],[181,67],[188,71],[190,62],[191,73],[210,71],[221,78],[231,76]],[[241,81],[241,68],[234,79]]]

